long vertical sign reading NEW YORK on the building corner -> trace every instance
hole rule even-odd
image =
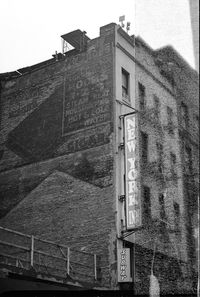
[[[131,230],[141,226],[141,201],[138,185],[138,145],[136,116],[124,117],[125,144],[125,190],[126,190],[126,227]]]

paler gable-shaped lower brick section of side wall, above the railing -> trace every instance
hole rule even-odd
[[[111,196],[112,186],[100,188],[54,171],[0,224],[101,255],[103,283],[109,285],[110,233],[115,227]]]

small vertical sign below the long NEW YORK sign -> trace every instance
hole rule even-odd
[[[118,282],[130,282],[130,249],[118,249]]]

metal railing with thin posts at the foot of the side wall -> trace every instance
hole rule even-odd
[[[64,279],[100,279],[100,256],[0,226],[1,264]]]

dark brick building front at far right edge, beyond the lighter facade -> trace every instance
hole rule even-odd
[[[158,57],[161,69],[173,78],[174,89],[176,91],[178,132],[180,142],[180,171],[181,183],[184,193],[184,225],[187,236],[186,248],[188,258],[197,270],[195,256],[195,227],[193,216],[198,212],[198,188],[199,188],[199,76],[179,54],[170,46],[158,50]],[[167,62],[167,63],[166,63]],[[188,109],[188,125],[183,125],[183,114],[181,104],[184,103]],[[191,149],[192,172],[188,173],[188,165],[185,163],[185,148]]]

